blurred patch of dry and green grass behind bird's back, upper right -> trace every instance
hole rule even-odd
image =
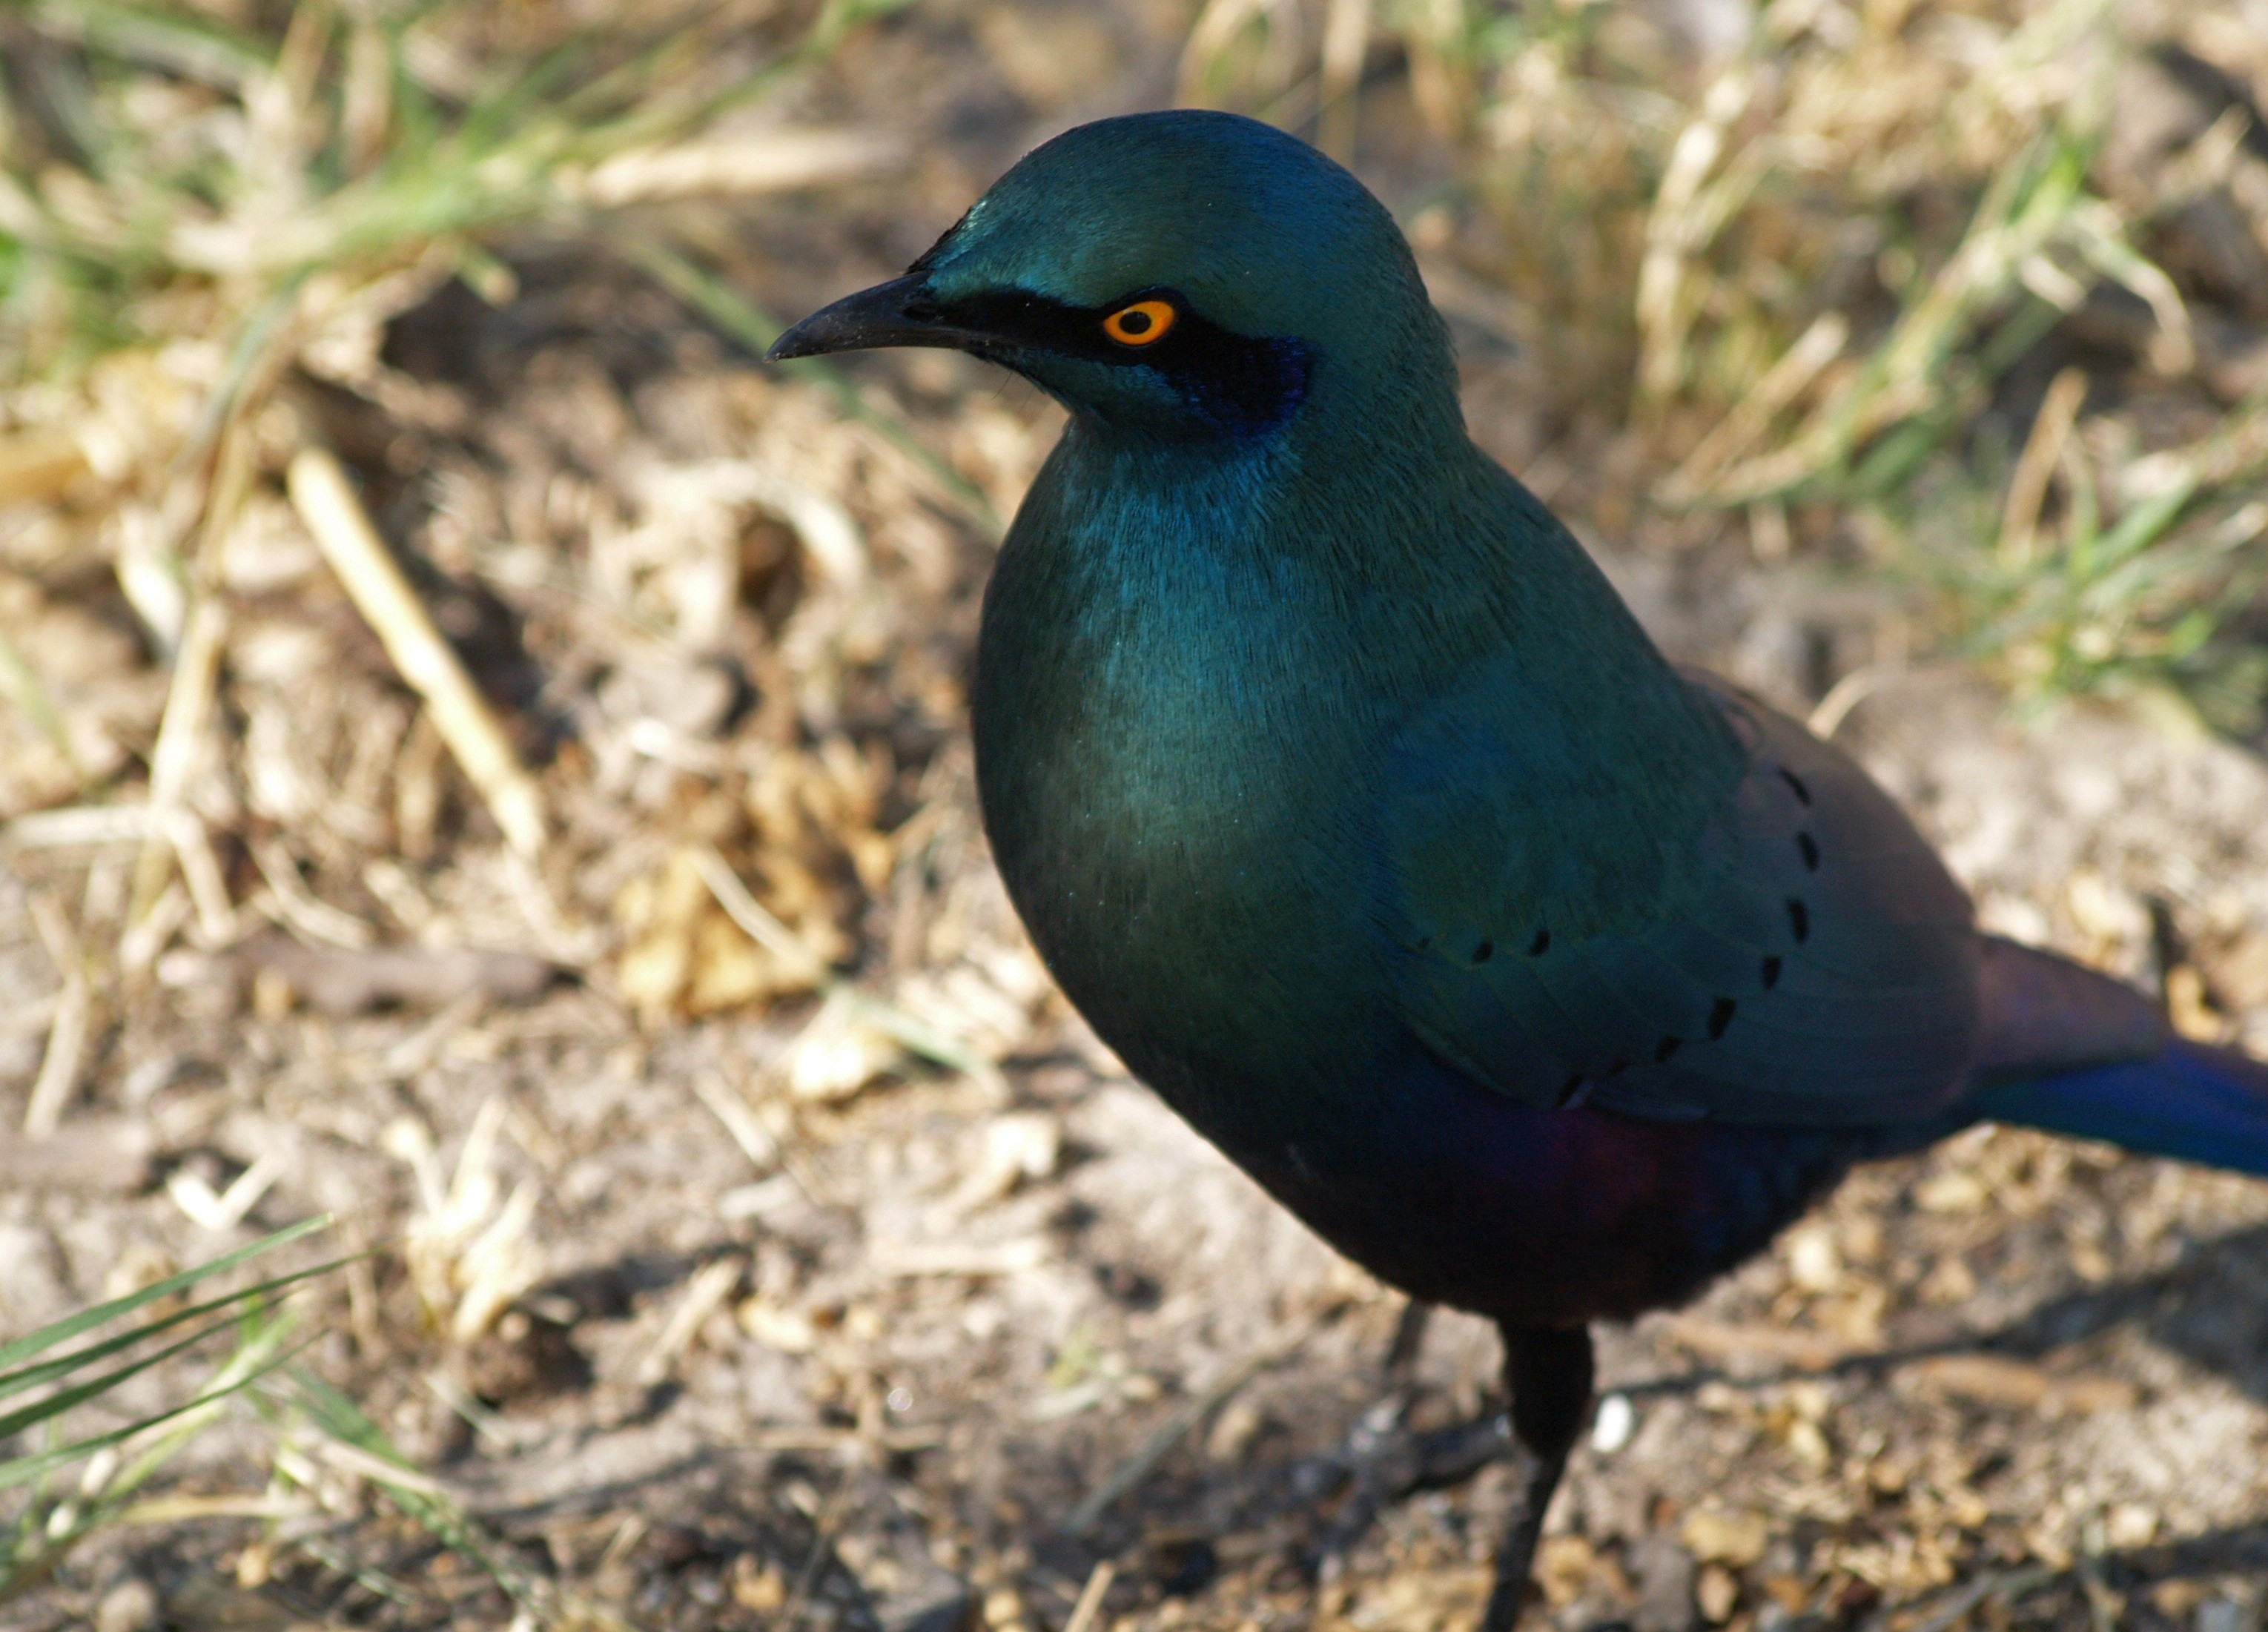
[[[1533,349],[1549,469],[1898,573],[1896,662],[2257,730],[2261,18],[1776,0],[1717,50],[1662,20],[1742,9],[1381,7],[1458,154],[1413,231],[1452,306],[1515,301],[1465,304]],[[1297,18],[1216,0],[1184,86],[1345,127]],[[2041,419],[2057,365],[2080,394]]]

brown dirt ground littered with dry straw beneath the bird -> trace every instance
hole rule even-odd
[[[782,313],[887,274],[1039,134],[1166,100],[1175,27],[916,9],[789,113],[887,107],[919,163],[719,215],[710,243]],[[1368,168],[1406,197],[1427,156],[1383,129]],[[1402,1301],[1050,991],[978,827],[968,505],[603,247],[513,270],[508,301],[451,283],[388,324],[386,413],[322,381],[295,401],[540,768],[542,861],[268,471],[191,784],[229,911],[204,923],[191,882],[179,945],[102,966],[57,1142],[0,1151],[0,1333],[329,1210],[386,1251],[311,1294],[308,1362],[562,1621],[1470,1625],[1497,1476],[1372,1503],[1361,1471],[1397,1423],[1488,1410],[1495,1340],[1436,1315],[1393,1383]],[[1615,451],[1522,417],[1531,363],[1463,317],[1461,340],[1476,435],[1678,657],[1805,712],[1882,648],[1862,578],[1760,569],[1726,521],[1617,528]],[[1055,435],[957,356],[853,379],[1000,515]],[[48,567],[7,578],[43,596],[9,628],[52,641],[73,721],[145,746],[163,678],[116,596]],[[2016,723],[1935,669],[1842,734],[1991,927],[2268,1049],[2259,755],[2143,714]],[[16,830],[0,870],[7,1129],[73,1002],[59,968],[125,925],[134,836],[79,839]],[[1860,1172],[1692,1310],[1601,1333],[1601,1396],[1540,1562],[1560,1627],[2243,1632],[2268,1582],[2268,1183],[1980,1129]],[[177,1489],[222,1516],[111,1532],[0,1625],[513,1623],[352,1469],[279,1480],[277,1435],[247,1414],[202,1442]]]

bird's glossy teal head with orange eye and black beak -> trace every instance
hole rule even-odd
[[[912,270],[805,317],[771,358],[953,347],[1077,415],[1252,442],[1447,406],[1447,331],[1393,215],[1234,113],[1098,120],[1025,154]]]

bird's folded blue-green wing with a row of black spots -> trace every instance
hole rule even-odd
[[[1540,1106],[1787,1124],[1939,1111],[1980,1061],[1969,898],[1844,753],[1724,682],[1690,685],[1744,764],[1676,836],[1635,836],[1644,825],[1613,809],[1624,789],[1560,789],[1558,816],[1569,800],[1597,809],[1563,821],[1554,848],[1585,852],[1585,823],[1619,821],[1613,864],[1597,845],[1560,877],[1535,855],[1495,879],[1472,855],[1445,864],[1506,832],[1445,802],[1531,798],[1533,766],[1474,764],[1470,723],[1452,732],[1461,787],[1402,777],[1383,845],[1404,1020],[1476,1081]],[[1440,755],[1438,734],[1413,741]],[[1619,904],[1601,913],[1608,898]]]

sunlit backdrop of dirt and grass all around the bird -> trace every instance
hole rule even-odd
[[[1059,413],[762,347],[1275,120],[1665,646],[2268,1049],[2263,102],[2263,0],[0,7],[0,1627],[1472,1625],[1363,1444],[1495,1340],[1388,1392],[984,857]],[[1563,1627],[2259,1625],[2268,1185],[1982,1129],[1601,1387]]]

